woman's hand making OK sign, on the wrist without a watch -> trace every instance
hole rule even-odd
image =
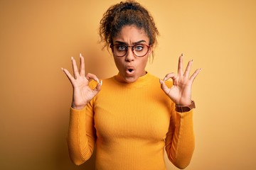
[[[68,69],[63,69],[63,72],[66,74],[68,79],[70,80],[73,86],[73,101],[72,101],[72,108],[75,109],[82,109],[84,108],[87,103],[92,100],[94,96],[100,91],[100,86],[102,85],[102,81],[100,82],[99,79],[95,76],[95,74],[86,74],[85,76],[85,59],[80,54],[80,69],[78,71],[78,66],[75,62],[75,59],[71,57],[72,66],[73,66],[73,73],[74,77],[68,72]],[[97,86],[95,89],[90,89],[89,81],[91,80],[97,81]]]

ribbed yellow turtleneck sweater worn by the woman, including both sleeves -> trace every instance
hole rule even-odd
[[[149,73],[131,84],[117,81],[118,76],[103,80],[100,93],[81,111],[70,108],[72,161],[84,163],[95,148],[97,170],[164,170],[165,147],[175,166],[188,166],[193,111],[176,112],[159,79]]]

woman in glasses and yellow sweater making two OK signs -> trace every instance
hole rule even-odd
[[[189,77],[192,61],[183,72],[181,55],[177,75],[161,80],[146,72],[158,30],[134,1],[111,6],[100,22],[100,35],[112,50],[117,75],[99,81],[85,74],[82,55],[79,70],[72,58],[74,77],[63,69],[73,85],[70,158],[82,164],[95,149],[96,169],[166,169],[165,148],[170,161],[185,168],[194,149],[191,86],[200,69]]]

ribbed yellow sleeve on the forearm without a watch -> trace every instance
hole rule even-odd
[[[90,103],[80,111],[70,108],[68,152],[74,164],[83,164],[92,156],[95,139],[93,111]]]

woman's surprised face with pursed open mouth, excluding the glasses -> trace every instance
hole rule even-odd
[[[113,45],[149,45],[149,37],[143,29],[138,29],[136,26],[124,26],[122,30],[113,38]],[[121,75],[121,81],[132,83],[137,81],[139,77],[146,74],[146,63],[149,55],[151,55],[151,47],[149,52],[144,57],[136,57],[132,52],[132,47],[128,48],[127,54],[124,57],[114,56],[114,62]]]

